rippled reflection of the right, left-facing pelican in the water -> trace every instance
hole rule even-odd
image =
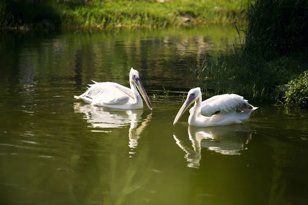
[[[188,136],[192,149],[174,134],[177,145],[186,152],[188,167],[199,168],[201,147],[224,155],[240,155],[245,145],[252,139],[253,130],[247,126],[207,127],[189,126]]]

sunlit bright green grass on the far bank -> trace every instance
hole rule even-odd
[[[241,1],[95,1],[87,6],[64,7],[64,27],[163,28],[237,20]]]

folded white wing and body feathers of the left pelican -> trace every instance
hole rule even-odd
[[[130,89],[117,83],[96,83],[94,81],[94,84],[89,86],[90,88],[78,98],[87,99],[93,105],[124,105],[133,96]]]

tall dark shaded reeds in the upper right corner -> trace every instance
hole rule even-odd
[[[247,6],[245,51],[266,59],[289,56],[308,46],[306,0],[257,0]]]

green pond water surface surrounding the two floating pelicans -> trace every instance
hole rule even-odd
[[[187,112],[172,126],[190,68],[237,39],[224,27],[2,35],[1,204],[307,204],[306,113],[248,99],[259,109],[245,125],[189,127]],[[131,67],[152,111],[73,98],[91,79],[129,86]]]

